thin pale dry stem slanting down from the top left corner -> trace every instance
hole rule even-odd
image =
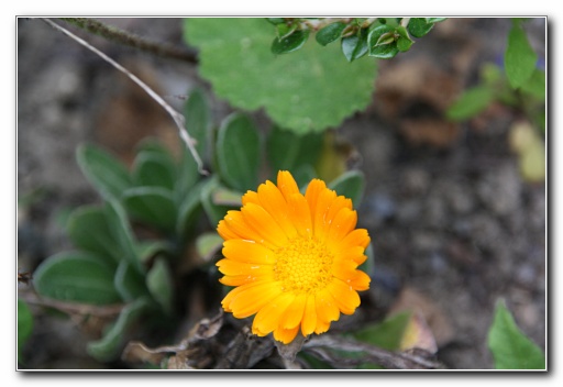
[[[99,51],[98,48],[91,46],[88,42],[86,42],[82,38],[76,36],[70,31],[66,30],[65,27],[62,27],[60,25],[54,23],[53,21],[51,21],[48,19],[42,19],[42,20],[44,22],[46,22],[47,24],[49,24],[51,26],[53,26],[55,30],[58,30],[58,31],[63,32],[65,35],[71,37],[73,40],[75,40],[76,42],[80,43],[86,48],[90,49],[91,52],[93,52],[95,54],[100,56],[102,59],[104,59],[106,62],[111,64],[118,70],[120,70],[121,73],[126,75],[135,84],[137,84],[156,102],[158,102],[164,108],[164,110],[166,110],[168,112],[168,114],[170,114],[172,119],[176,123],[176,126],[178,126],[178,134],[179,134],[180,139],[184,141],[184,143],[186,144],[186,146],[188,147],[189,152],[191,153],[191,156],[196,161],[196,163],[198,165],[199,173],[201,175],[206,175],[206,176],[209,175],[209,173],[203,168],[203,162],[201,161],[201,158],[199,157],[198,152],[196,151],[195,140],[188,134],[188,131],[185,128],[185,121],[186,120],[184,119],[184,115],[181,115],[176,110],[174,110],[173,107],[170,107],[161,96],[158,96],[145,82],[143,82],[141,79],[139,79],[135,75],[131,74],[126,68],[121,66],[119,63],[117,63],[115,60],[113,60],[112,58],[110,58],[109,56],[103,54],[101,51]]]

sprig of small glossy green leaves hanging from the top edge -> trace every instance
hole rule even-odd
[[[301,48],[311,31],[322,46],[340,40],[341,51],[349,62],[364,55],[379,59],[395,57],[410,49],[415,37],[422,37],[445,18],[354,18],[325,21],[295,18],[271,18],[277,36],[272,43],[274,54],[287,54]],[[325,24],[325,25],[324,25]]]

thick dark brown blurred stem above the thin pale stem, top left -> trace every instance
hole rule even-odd
[[[179,47],[162,42],[152,42],[145,37],[132,34],[128,31],[120,30],[113,25],[103,24],[102,22],[89,18],[59,18],[60,20],[76,25],[87,32],[93,33],[98,36],[107,38],[108,41],[123,44],[129,47],[141,49],[150,54],[162,57],[185,60],[191,64],[197,64],[196,56]]]

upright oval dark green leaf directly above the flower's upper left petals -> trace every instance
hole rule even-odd
[[[228,117],[217,139],[217,162],[221,179],[231,187],[246,191],[256,188],[260,167],[260,135],[245,114]]]

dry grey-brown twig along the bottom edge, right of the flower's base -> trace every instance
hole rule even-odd
[[[361,352],[364,357],[361,363],[376,363],[388,369],[437,369],[443,366],[416,353],[390,352],[379,347],[332,335],[311,338],[303,344],[303,350],[310,349],[324,360],[332,363],[355,364],[351,358],[344,358],[327,350],[342,350],[347,352]]]

